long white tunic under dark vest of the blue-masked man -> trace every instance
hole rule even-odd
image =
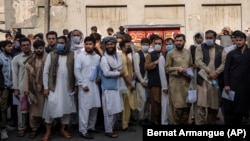
[[[69,84],[69,76],[66,63],[67,56],[59,55],[55,91],[49,92],[49,96],[48,98],[46,98],[44,104],[43,118],[45,119],[63,117],[64,114],[76,112],[74,97],[70,96],[72,90]],[[51,57],[50,54],[48,54],[43,71],[44,89],[48,89],[48,77],[50,66]]]

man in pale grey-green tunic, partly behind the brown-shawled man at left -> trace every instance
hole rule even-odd
[[[13,77],[13,89],[14,96],[18,99],[22,99],[23,94],[23,80],[25,66],[24,62],[32,55],[31,52],[31,41],[28,38],[20,39],[22,53],[18,54],[13,58],[12,61],[12,77]],[[23,137],[27,127],[27,116],[28,111],[21,111],[21,104],[18,105],[18,136]]]

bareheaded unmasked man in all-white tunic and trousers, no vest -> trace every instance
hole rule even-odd
[[[100,91],[96,83],[100,56],[94,52],[95,39],[84,39],[85,51],[75,60],[75,76],[79,87],[79,132],[83,138],[93,139],[88,130],[95,130],[97,110],[101,107]]]

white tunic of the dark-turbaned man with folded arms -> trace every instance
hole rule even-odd
[[[119,77],[119,71],[110,71],[106,57],[101,59],[101,70],[106,77]],[[103,83],[103,82],[102,82]],[[104,82],[105,83],[105,82]],[[117,84],[118,80],[117,80]],[[119,87],[119,85],[118,85]],[[103,114],[104,116],[120,113],[123,110],[122,95],[119,90],[103,90],[102,94]]]

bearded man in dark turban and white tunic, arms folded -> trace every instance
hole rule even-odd
[[[121,56],[116,52],[116,39],[109,36],[105,37],[103,42],[106,51],[101,58],[100,67],[105,135],[117,138],[113,126],[116,121],[115,116],[123,110],[119,82],[123,79],[124,71]]]

